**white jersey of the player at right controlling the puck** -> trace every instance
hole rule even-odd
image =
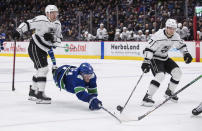
[[[169,49],[173,48],[173,46],[180,50],[182,54],[188,52],[187,46],[184,40],[180,39],[179,34],[174,33],[171,38],[168,38],[165,34],[165,29],[160,29],[148,41],[144,50],[144,57],[150,60],[158,59],[165,61],[168,59]]]

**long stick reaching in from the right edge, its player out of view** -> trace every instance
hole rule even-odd
[[[202,77],[202,75],[198,76],[197,78],[195,78],[194,80],[192,80],[191,82],[189,82],[187,85],[185,85],[184,87],[182,87],[181,89],[179,89],[177,92],[175,92],[173,94],[173,96],[176,96],[177,94],[179,94],[180,92],[182,92],[184,89],[186,89],[187,87],[189,87],[190,85],[192,85],[193,83],[195,83],[197,80],[199,80]],[[161,104],[157,105],[154,109],[146,112],[144,115],[141,115],[138,117],[138,120],[143,119],[144,117],[146,117],[147,115],[149,115],[150,113],[152,113],[153,111],[155,111],[157,108],[161,107],[163,104],[165,104],[168,100],[170,100],[172,98],[172,96],[168,97],[167,99],[165,99]]]

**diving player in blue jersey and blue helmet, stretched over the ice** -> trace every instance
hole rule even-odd
[[[90,110],[101,108],[102,102],[97,98],[97,77],[89,63],[82,63],[79,67],[63,65],[52,72],[60,89],[74,93],[79,100],[88,102]]]

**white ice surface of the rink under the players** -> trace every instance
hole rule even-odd
[[[103,106],[121,120],[121,124],[104,110],[90,111],[88,103],[74,94],[60,91],[48,73],[46,95],[52,104],[35,104],[28,101],[33,65],[30,58],[16,58],[15,91],[12,91],[13,58],[0,56],[0,131],[201,131],[202,114],[191,111],[202,101],[202,79],[182,91],[178,103],[168,101],[140,121],[137,119],[154,107],[141,106],[151,72],[143,76],[123,113],[116,110],[124,105],[142,74],[141,61],[57,58],[57,65],[76,65],[89,62],[97,75],[98,98]],[[50,63],[50,61],[49,61]],[[202,63],[177,62],[183,71],[180,89],[202,74]],[[51,63],[49,64],[51,68]],[[166,75],[154,95],[155,105],[160,104],[170,76]]]

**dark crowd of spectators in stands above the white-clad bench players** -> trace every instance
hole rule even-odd
[[[145,23],[148,23],[149,33],[151,34],[151,29],[158,30],[164,27],[167,17],[177,18],[180,23],[183,23],[185,19],[189,21],[189,18],[193,18],[194,7],[201,4],[199,1],[189,0],[188,18],[186,18],[183,11],[185,8],[184,0],[130,0],[129,3],[132,1],[132,4],[126,4],[126,1],[30,0],[28,2],[27,0],[4,0],[0,4],[0,26],[5,31],[7,39],[12,40],[11,33],[16,23],[18,24],[26,19],[33,18],[35,15],[43,14],[44,9],[42,7],[51,3],[60,5],[61,15],[59,19],[62,24],[63,40],[82,40],[79,36],[79,32],[82,30],[88,30],[92,35],[96,35],[97,28],[101,22],[119,29],[131,24],[132,31],[135,33],[138,30],[145,32],[148,29]],[[191,23],[188,23],[189,26],[187,25],[190,30],[189,40],[193,40],[193,26]],[[201,24],[202,22],[199,22],[198,30]],[[109,35],[112,31],[110,26],[106,26]],[[25,38],[29,38],[29,36]],[[109,38],[111,39],[111,36]]]

